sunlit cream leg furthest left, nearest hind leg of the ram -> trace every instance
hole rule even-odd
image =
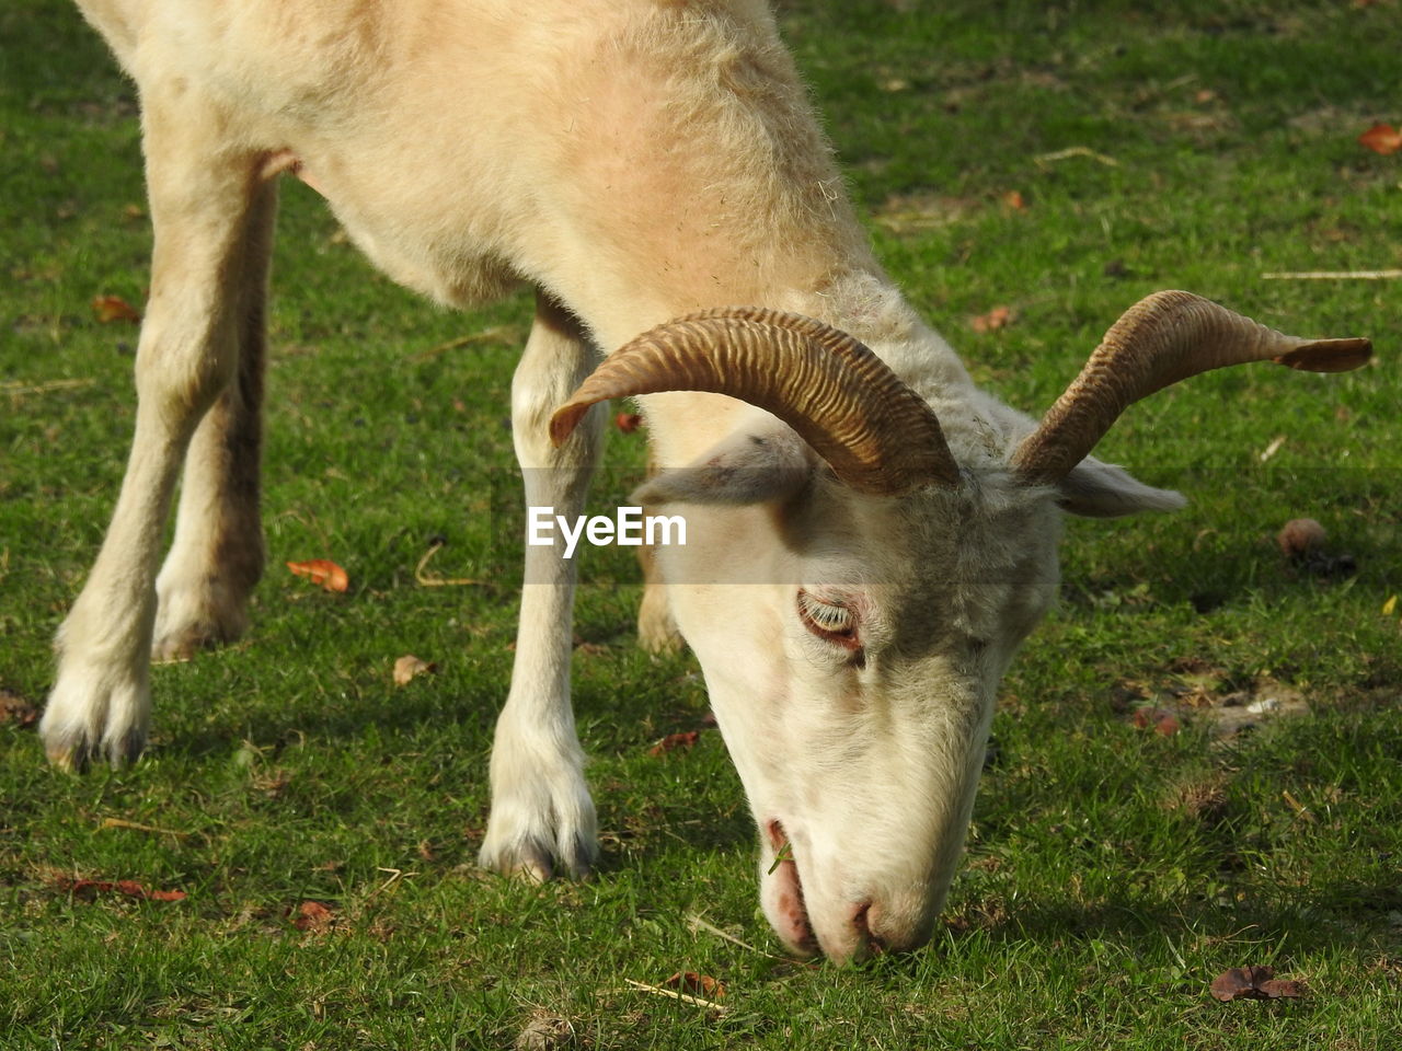
[[[144,83],[142,98],[156,242],[136,429],[102,548],[59,629],[57,678],[39,726],[50,761],[69,768],[93,755],[116,765],[146,744],[164,524],[191,436],[238,369],[241,254],[269,207],[257,158],[219,137],[226,114],[185,83]]]

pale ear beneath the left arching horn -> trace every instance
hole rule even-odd
[[[688,467],[660,471],[634,490],[637,504],[768,503],[802,489],[817,455],[788,427],[742,432],[721,441]]]

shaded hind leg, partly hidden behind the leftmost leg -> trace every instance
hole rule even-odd
[[[181,660],[233,642],[248,625],[248,597],[262,576],[259,521],[268,265],[278,184],[258,185],[234,259],[237,376],[205,413],[181,478],[175,540],[156,579],[156,660]]]

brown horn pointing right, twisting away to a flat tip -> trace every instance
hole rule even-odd
[[[1030,482],[1059,482],[1133,402],[1197,373],[1266,360],[1343,373],[1371,355],[1367,339],[1287,336],[1189,291],[1155,291],[1110,327],[1012,465]]]

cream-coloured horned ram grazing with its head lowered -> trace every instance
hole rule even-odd
[[[1040,425],[1004,406],[872,259],[760,0],[81,4],[139,85],[156,245],[130,462],[43,716],[62,765],[136,757],[151,654],[244,629],[280,171],[440,301],[538,290],[512,385],[529,504],[578,516],[589,406],[639,398],[659,465],[639,500],[688,521],[649,608],[666,596],[705,671],[795,952],[930,936],[1061,513],[1180,503],[1088,457],[1115,418],[1204,369],[1368,355],[1157,293]],[[482,862],[579,874],[573,561],[526,558]]]

